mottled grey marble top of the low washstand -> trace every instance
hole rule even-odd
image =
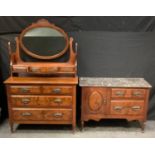
[[[100,87],[141,87],[151,88],[152,86],[144,80],[144,78],[96,78],[96,77],[81,77],[79,85],[100,86]]]

